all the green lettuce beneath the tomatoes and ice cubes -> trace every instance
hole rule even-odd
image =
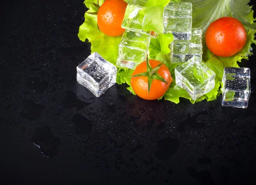
[[[243,49],[239,51],[236,55],[231,57],[218,57],[213,55],[212,52],[207,49],[205,40],[203,39],[203,59],[204,64],[209,66],[215,74],[215,87],[212,91],[203,95],[195,101],[189,97],[189,94],[186,90],[178,87],[175,84],[175,75],[174,69],[176,66],[180,65],[177,63],[172,63],[170,61],[170,49],[169,43],[172,42],[172,34],[160,34],[158,38],[151,38],[149,46],[149,58],[156,59],[158,61],[165,60],[165,63],[168,65],[169,70],[171,71],[174,81],[172,82],[169,90],[164,95],[166,100],[172,101],[174,103],[179,103],[180,98],[187,98],[191,103],[202,101],[206,99],[207,101],[215,100],[221,94],[221,79],[223,75],[223,69],[227,66],[239,67],[237,62],[241,62],[241,59],[248,60],[248,57],[252,55],[251,44],[255,43],[254,34],[256,33],[256,24],[253,22],[253,11],[251,7],[247,5],[249,0],[125,0],[128,3],[148,7],[145,9],[147,14],[146,19],[143,23],[143,30],[149,31],[153,30],[155,32],[161,32],[162,30],[162,20],[160,17],[163,6],[169,2],[191,2],[193,11],[192,11],[192,25],[193,27],[199,27],[206,31],[207,27],[214,20],[219,17],[232,16],[237,18],[243,23],[244,27],[247,30],[247,42],[244,45]],[[89,9],[88,12],[96,12],[97,9],[93,5],[97,3],[97,0],[85,0],[84,4]],[[102,5],[104,0],[99,0],[99,5]],[[151,13],[154,12],[154,13]],[[158,16],[157,16],[158,15]],[[91,43],[91,52],[99,52],[103,58],[110,61],[112,64],[116,65],[116,58],[118,56],[118,44],[121,41],[120,37],[109,37],[99,31],[97,26],[97,15],[84,14],[84,23],[79,27],[79,38],[82,41],[88,39]],[[204,37],[203,37],[204,38]],[[131,85],[131,75],[133,70],[118,68],[118,73],[116,76],[116,82],[118,84],[127,83]],[[134,91],[131,87],[128,87],[128,90],[133,94]]]

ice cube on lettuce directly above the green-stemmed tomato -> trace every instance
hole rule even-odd
[[[150,43],[150,36],[125,30],[119,44],[119,53],[116,65],[135,69],[145,61]]]

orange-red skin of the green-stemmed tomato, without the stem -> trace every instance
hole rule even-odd
[[[151,65],[152,68],[154,68],[160,64],[160,61],[149,60],[149,64]],[[135,68],[134,72],[132,73],[132,76],[142,72],[146,72],[146,71],[147,71],[147,65],[146,65],[146,61],[144,61]],[[172,82],[171,73],[169,72],[169,69],[165,64],[162,64],[160,66],[160,69],[158,70],[157,73],[161,77],[163,77],[168,84],[154,79],[149,93],[148,93],[148,77],[140,76],[140,77],[131,78],[131,87],[134,90],[134,92],[138,96],[140,96],[140,98],[143,98],[146,100],[155,100],[157,98],[160,98],[166,93],[166,91],[168,90]]]

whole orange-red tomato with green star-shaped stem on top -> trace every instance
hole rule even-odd
[[[172,82],[169,69],[163,62],[147,60],[139,64],[131,76],[131,87],[143,99],[161,98]]]

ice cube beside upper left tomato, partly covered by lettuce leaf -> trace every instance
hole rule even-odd
[[[145,7],[143,6],[128,4],[121,27],[133,32],[151,35],[151,37],[157,38],[158,34],[156,32],[144,32],[142,29],[142,23],[146,16],[145,12],[143,12],[144,9]]]

